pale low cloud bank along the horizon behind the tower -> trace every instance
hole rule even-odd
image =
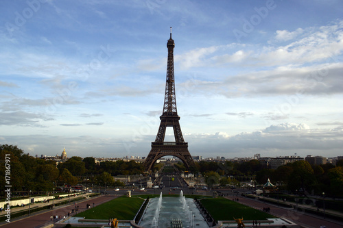
[[[307,154],[334,157],[342,152],[343,126],[334,129],[310,129],[306,124],[282,123],[260,131],[244,132],[229,136],[225,132],[215,134],[185,134],[191,155],[205,157],[224,156],[252,157]],[[147,156],[154,136],[95,138],[92,136],[2,136],[2,143],[16,142],[19,148],[31,155],[55,155],[51,148],[67,149],[69,156],[123,157],[126,155]],[[39,146],[38,146],[39,145]]]

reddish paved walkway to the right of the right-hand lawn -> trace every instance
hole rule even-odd
[[[226,197],[227,199],[232,199],[232,197]],[[238,198],[238,203],[254,207],[256,209],[262,210],[263,207],[270,207],[270,214],[278,216],[281,218],[287,218],[292,220],[292,222],[308,228],[320,228],[320,225],[325,225],[327,228],[342,228],[343,223],[338,221],[328,220],[322,217],[314,216],[312,214],[307,214],[305,212],[297,212],[293,209],[288,209],[285,207],[278,207],[276,205],[263,203],[254,199],[249,199],[245,197],[235,197]]]

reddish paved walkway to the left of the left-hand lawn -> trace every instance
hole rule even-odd
[[[31,214],[31,216],[22,216],[19,218],[11,218],[11,222],[1,222],[0,227],[4,228],[18,228],[18,227],[25,227],[25,228],[35,228],[35,227],[44,227],[46,225],[52,224],[56,222],[56,220],[51,220],[50,216],[68,216],[68,212],[71,212],[71,210],[75,209],[75,205],[79,206],[79,212],[82,212],[86,210],[86,205],[91,204],[93,206],[93,203],[95,206],[105,203],[107,201],[110,201],[111,199],[114,199],[114,195],[105,195],[101,197],[95,197],[90,199],[84,199],[83,201],[78,201],[75,203],[67,204],[67,205],[61,205],[59,207],[56,207],[54,210],[43,210],[40,212],[36,212],[34,214]],[[64,199],[65,200],[65,199]],[[50,202],[51,203],[51,202]],[[44,203],[43,203],[44,204]],[[36,204],[35,204],[36,205]],[[46,205],[46,203],[45,203]],[[23,207],[19,207],[19,209],[23,210]],[[26,209],[26,207],[25,207]],[[75,214],[70,214],[73,216]]]

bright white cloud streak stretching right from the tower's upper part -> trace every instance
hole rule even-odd
[[[241,49],[244,45],[212,46],[198,48],[177,56],[182,68],[217,67],[230,64],[240,67],[277,67],[284,65],[299,66],[314,64],[327,60],[343,51],[343,21],[335,21],[332,25],[322,27],[298,28],[296,31],[276,31],[276,40],[285,41],[279,46],[270,42],[270,46],[259,45]],[[301,36],[300,36],[301,35]],[[223,51],[233,53],[222,54]]]

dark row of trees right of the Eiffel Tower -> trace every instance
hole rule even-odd
[[[182,164],[175,166],[182,170]],[[236,185],[239,181],[253,180],[253,184],[264,184],[268,179],[279,190],[303,192],[304,194],[322,194],[343,197],[343,160],[336,166],[322,164],[311,166],[300,160],[270,169],[259,160],[246,162],[198,162],[193,170],[202,174],[208,186]],[[195,173],[196,173],[195,172]]]

